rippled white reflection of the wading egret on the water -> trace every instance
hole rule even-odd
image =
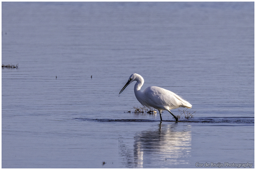
[[[181,168],[189,164],[190,125],[162,125],[134,137],[133,154],[129,143],[119,138],[119,150],[127,168]],[[131,143],[130,143],[131,144]]]

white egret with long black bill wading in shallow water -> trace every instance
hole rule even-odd
[[[144,79],[139,74],[132,74],[125,84],[122,87],[122,90],[119,92],[121,94],[125,88],[132,83],[132,81],[137,81],[134,86],[134,93],[137,100],[144,106],[152,109],[154,107],[159,111],[160,119],[162,120],[162,110],[167,110],[171,115],[174,116],[176,121],[178,121],[178,117],[171,113],[171,109],[177,109],[178,107],[188,107],[189,109],[192,105],[183,100],[180,96],[176,95],[174,92],[163,89],[161,87],[150,86],[147,87],[143,92],[140,91],[142,85],[144,84]]]

